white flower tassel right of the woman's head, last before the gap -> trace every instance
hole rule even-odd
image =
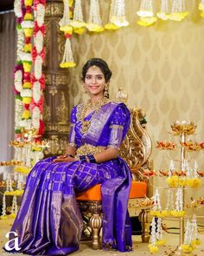
[[[129,25],[124,13],[124,0],[115,0],[113,16],[111,17],[111,23],[115,26],[122,28]]]

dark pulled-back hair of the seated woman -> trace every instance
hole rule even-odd
[[[109,82],[109,80],[112,77],[112,70],[109,69],[108,64],[99,58],[92,58],[89,61],[86,62],[82,69],[82,81],[85,82],[85,77],[86,77],[86,72],[87,70],[92,67],[92,66],[97,66],[99,69],[102,71],[102,73],[105,76],[105,82]]]

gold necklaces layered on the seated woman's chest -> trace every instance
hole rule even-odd
[[[77,108],[77,119],[81,122],[81,133],[84,135],[90,128],[92,118],[99,113],[100,108],[102,108],[105,104],[110,102],[109,99],[103,97],[99,102],[92,103],[90,100],[86,102],[86,104],[80,104]],[[91,109],[94,111],[94,114],[92,115],[91,119],[89,121],[85,121],[85,115],[87,109]]]

